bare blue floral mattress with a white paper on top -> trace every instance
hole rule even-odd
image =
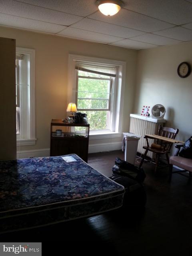
[[[0,233],[100,214],[123,196],[76,154],[0,161]]]

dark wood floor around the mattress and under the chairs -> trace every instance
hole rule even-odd
[[[112,173],[117,156],[124,158],[120,150],[90,154],[88,163],[107,175]],[[192,181],[173,174],[169,184],[166,168],[157,170],[156,174],[151,163],[144,163],[143,168],[146,172],[145,209],[116,210],[91,218],[8,233],[0,236],[0,241],[51,241],[70,248],[73,255],[74,252],[84,255],[192,255]]]

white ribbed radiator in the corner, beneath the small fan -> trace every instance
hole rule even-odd
[[[130,114],[130,132],[141,135],[138,143],[137,152],[144,154],[145,150],[143,146],[146,146],[145,134],[157,134],[158,126],[166,122],[164,119],[156,119],[151,117],[144,117],[140,114]],[[153,143],[154,140],[148,139],[149,144]],[[147,156],[152,158],[152,152],[148,152]]]

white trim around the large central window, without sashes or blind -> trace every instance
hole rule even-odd
[[[90,139],[102,139],[102,138],[114,138],[115,136],[122,136],[122,106],[124,100],[124,88],[125,88],[125,76],[126,76],[126,62],[119,60],[109,60],[104,58],[95,58],[89,56],[75,55],[69,54],[68,58],[68,87],[67,87],[67,104],[69,102],[75,102],[75,91],[76,91],[76,70],[75,65],[76,61],[88,61],[88,62],[98,62],[98,63],[108,63],[118,66],[118,74],[117,74],[117,83],[118,83],[118,97],[116,101],[118,102],[116,109],[116,116],[118,119],[116,120],[116,132],[98,132],[93,131],[90,132]]]

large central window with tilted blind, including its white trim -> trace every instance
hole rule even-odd
[[[87,114],[92,138],[121,132],[125,70],[123,61],[69,54],[67,101]]]

